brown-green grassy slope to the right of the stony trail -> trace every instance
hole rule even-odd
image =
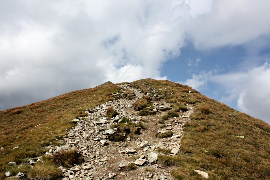
[[[142,85],[143,82],[149,88]],[[193,169],[207,172],[208,179],[213,180],[270,178],[270,126],[267,123],[174,82],[143,79],[132,85],[145,92],[156,88],[160,98],[168,102],[184,101],[196,107],[192,121],[185,125],[178,156],[159,156],[162,164],[179,167],[172,171],[177,179],[203,179]],[[194,93],[188,93],[190,90]]]

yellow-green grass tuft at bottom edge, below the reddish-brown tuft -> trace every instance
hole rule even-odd
[[[30,170],[28,178],[31,180],[54,180],[62,175],[62,171],[50,161],[37,162]]]

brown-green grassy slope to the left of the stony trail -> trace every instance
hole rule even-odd
[[[10,168],[7,163],[24,162],[41,156],[44,146],[63,136],[73,124],[71,119],[84,116],[87,108],[111,99],[120,88],[106,84],[91,89],[73,91],[38,103],[0,111],[0,179]],[[38,126],[37,126],[38,125]],[[17,149],[14,147],[19,146]]]

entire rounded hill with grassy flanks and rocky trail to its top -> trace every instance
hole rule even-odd
[[[106,82],[0,112],[1,179],[270,177],[270,126],[187,85]]]

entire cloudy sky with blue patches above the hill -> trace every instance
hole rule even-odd
[[[0,1],[0,110],[169,79],[270,124],[268,0]]]

